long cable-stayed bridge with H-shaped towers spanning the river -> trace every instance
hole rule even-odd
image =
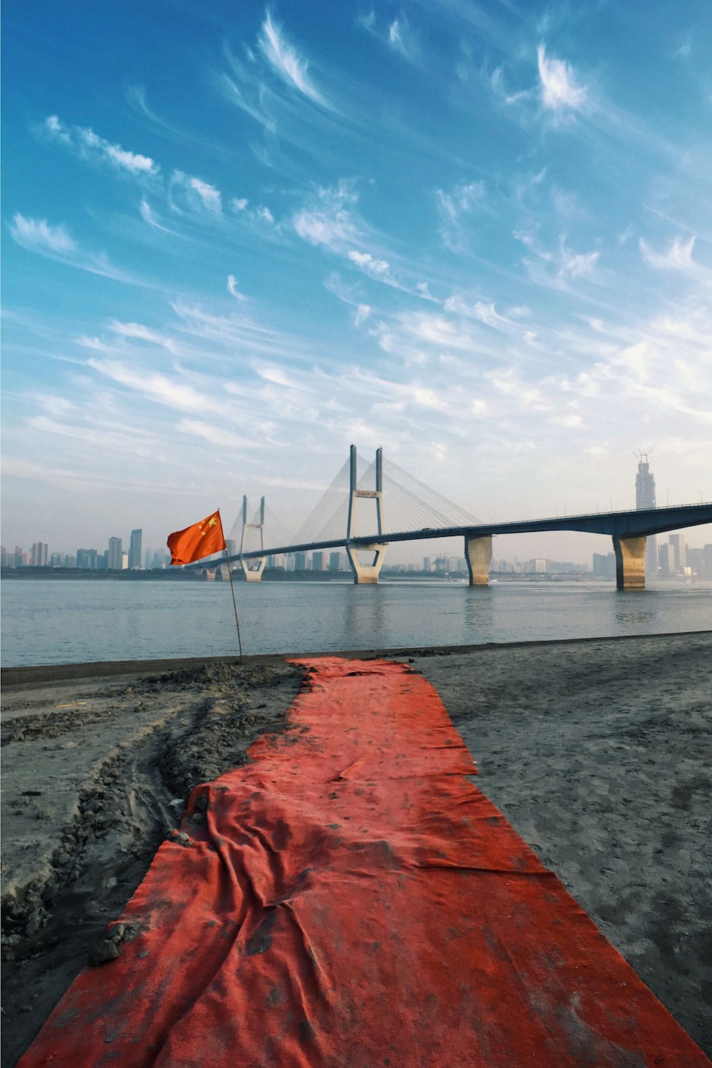
[[[712,503],[484,523],[393,461],[384,460],[381,449],[367,465],[351,445],[348,459],[294,534],[266,506],[265,498],[250,517],[244,498],[241,517],[230,535],[235,543],[239,539],[239,551],[231,553],[228,560],[239,562],[246,579],[256,582],[268,556],[345,548],[353,581],[376,583],[389,544],[459,536],[464,539],[470,584],[487,585],[493,535],[581,531],[610,535],[618,588],[643,590],[647,537],[708,522],[712,522]],[[220,561],[210,561],[200,566],[220,565]]]

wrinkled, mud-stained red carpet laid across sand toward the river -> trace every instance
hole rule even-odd
[[[301,662],[291,729],[193,791],[190,846],[120,917],[136,937],[21,1068],[710,1064],[464,778],[429,684]]]

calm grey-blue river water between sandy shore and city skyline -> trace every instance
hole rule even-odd
[[[257,653],[471,645],[712,629],[712,584],[622,593],[613,583],[442,581],[236,584]],[[7,580],[3,666],[234,655],[226,583]]]

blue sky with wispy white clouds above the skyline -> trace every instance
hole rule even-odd
[[[296,529],[352,442],[484,521],[634,507],[634,452],[712,500],[711,37],[707,0],[6,4],[3,545],[243,493]]]

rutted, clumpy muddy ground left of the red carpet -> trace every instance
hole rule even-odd
[[[271,658],[3,686],[7,1068],[123,910],[190,789],[283,729],[301,681],[301,671]]]

